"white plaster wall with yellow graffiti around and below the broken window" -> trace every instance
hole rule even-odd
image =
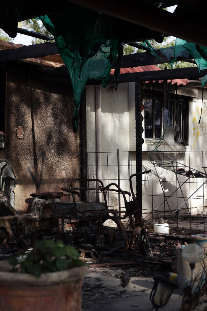
[[[188,129],[188,146],[181,146],[179,144],[175,146],[166,146],[162,144],[159,146],[160,151],[171,151],[169,153],[169,156],[171,156],[173,159],[176,157],[175,151],[181,151],[177,153],[177,161],[184,165],[189,165],[192,168],[195,168],[197,170],[200,170],[202,172],[202,166],[207,166],[207,153],[205,155],[205,152],[207,150],[207,91],[204,89],[204,100],[203,100],[203,109],[202,109],[202,116],[199,122],[200,113],[201,113],[201,104],[202,104],[202,89],[198,88],[198,98],[192,98],[189,99],[189,117],[188,117],[188,123],[189,123],[189,129]],[[144,127],[144,121],[143,121],[143,127]],[[142,151],[151,151],[155,148],[156,144],[144,144]],[[172,152],[174,151],[174,152]],[[186,152],[186,151],[189,151]],[[167,153],[168,154],[168,153]],[[145,158],[147,158],[147,153],[145,153]],[[147,160],[143,160],[143,170],[144,169],[150,169],[149,167],[150,162]],[[165,188],[165,195],[168,197],[173,191],[179,187],[178,182],[176,181],[176,176],[173,172],[170,172],[167,169],[163,168],[157,168],[158,175],[160,176],[160,179],[163,181],[162,185]],[[187,178],[178,175],[178,180],[180,184],[184,182]],[[204,179],[203,181],[205,181]],[[182,191],[184,197],[189,197],[192,195],[196,189],[199,187],[198,185],[199,180],[196,178],[190,179],[190,184],[187,182],[185,185],[182,186]],[[150,193],[151,192],[151,193]],[[153,197],[150,197],[149,194],[153,193]],[[178,199],[177,199],[177,193],[178,193]],[[204,193],[207,194],[206,186],[204,185]],[[198,197],[198,193],[195,192],[195,194],[191,197],[190,200],[187,202],[187,206],[189,209],[191,209],[191,213],[203,213],[205,208],[203,206],[207,206],[207,196],[204,197]],[[177,206],[179,207],[183,202],[182,193],[180,189],[178,189],[178,192],[176,192],[174,197],[171,197],[168,199],[169,206],[172,211],[175,211],[177,209]],[[162,202],[164,201],[164,196],[162,192],[162,188],[159,183],[159,179],[157,177],[156,171],[154,167],[152,167],[152,173],[148,174],[148,177],[143,182],[143,206],[145,207],[145,210],[143,210],[144,213],[147,213],[151,211],[152,209],[155,210],[156,207],[158,207]],[[169,207],[167,203],[165,202],[161,207],[159,207],[158,211],[161,213],[168,213]],[[187,212],[186,204],[182,206],[182,211]]]

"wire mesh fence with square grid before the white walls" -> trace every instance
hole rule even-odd
[[[136,173],[136,152],[102,152],[101,176],[97,169],[97,153],[88,157],[88,178],[99,178],[104,186],[120,183],[120,188],[131,192],[130,175]],[[119,163],[118,163],[119,159]],[[205,151],[156,151],[142,153],[142,170],[151,173],[142,175],[142,215],[149,231],[156,231],[156,223],[162,217],[169,224],[171,234],[190,235],[205,233],[207,215],[207,154]],[[118,178],[119,176],[119,178]],[[95,185],[90,181],[89,186]],[[136,178],[133,178],[136,193]],[[126,195],[127,196],[127,195]],[[96,202],[96,191],[87,192],[87,200]],[[127,196],[128,202],[132,196]],[[125,210],[124,198],[108,191],[109,209]],[[128,226],[128,219],[124,220]],[[109,223],[110,225],[110,223]],[[164,233],[168,233],[164,225]]]

